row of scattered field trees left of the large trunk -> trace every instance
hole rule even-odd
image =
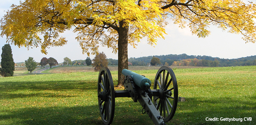
[[[32,71],[36,69],[38,64],[41,65],[42,67],[45,67],[47,64],[49,64],[50,68],[52,68],[52,66],[58,65],[58,61],[52,57],[50,58],[43,57],[40,63],[37,63],[33,57],[29,57],[27,60],[25,60],[25,64],[24,62],[21,62],[19,64],[25,65],[28,71],[30,72],[30,74],[32,74]],[[90,57],[87,57],[86,60],[74,60],[72,62],[71,59],[69,59],[68,57],[65,57],[63,64],[66,64],[66,65],[68,64],[85,65],[86,64],[87,66],[92,64],[94,67],[94,70],[99,71],[101,67],[107,67],[108,61],[107,61],[106,55],[102,52],[102,53],[96,54],[93,60],[91,60]],[[5,44],[2,47],[0,75],[2,75],[3,77],[13,76],[15,65],[18,65],[18,64],[14,63],[13,61],[11,46],[10,44]]]

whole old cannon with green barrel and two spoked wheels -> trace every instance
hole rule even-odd
[[[155,125],[166,125],[176,111],[178,86],[173,70],[163,66],[156,73],[153,89],[151,81],[143,75],[123,69],[125,90],[114,90],[113,79],[107,67],[101,68],[98,77],[98,104],[102,121],[110,125],[114,118],[115,98],[130,97],[139,101],[142,113],[147,113]]]

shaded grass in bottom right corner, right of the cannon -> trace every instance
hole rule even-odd
[[[256,124],[256,96],[247,98],[250,98],[251,101],[229,97],[187,98],[186,102],[178,102],[178,108],[170,123],[184,125],[253,125]],[[218,121],[206,121],[207,117],[218,118]],[[252,120],[244,121],[246,117],[251,117]],[[239,121],[223,121],[225,118],[240,119]]]

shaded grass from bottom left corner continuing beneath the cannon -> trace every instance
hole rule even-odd
[[[127,103],[134,103],[129,101]],[[127,104],[126,103],[126,104]],[[20,108],[0,115],[3,125],[103,125],[98,105],[47,108]],[[112,125],[153,125],[148,115],[132,107],[116,106]]]

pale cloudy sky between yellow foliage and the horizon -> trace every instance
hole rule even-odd
[[[19,5],[19,0],[5,0],[0,4],[0,18],[6,14],[5,11],[10,10],[12,4]],[[147,44],[146,38],[136,43],[138,46],[133,48],[128,45],[128,58],[143,57],[153,55],[168,54],[187,54],[187,55],[206,55],[225,59],[235,59],[246,56],[256,55],[256,43],[245,43],[242,39],[243,35],[231,34],[216,26],[210,26],[211,34],[206,38],[198,38],[192,35],[188,27],[181,29],[177,24],[173,24],[172,20],[167,20],[169,24],[165,27],[167,35],[165,39],[158,39],[157,45],[154,47]],[[40,62],[43,57],[55,58],[59,63],[63,62],[65,57],[73,60],[85,60],[87,54],[82,54],[79,42],[75,39],[77,36],[73,31],[65,31],[60,36],[66,37],[68,43],[62,47],[51,47],[47,49],[48,54],[41,53],[41,48],[27,49],[26,47],[17,47],[11,45],[14,62],[24,62],[29,57],[33,57],[36,62]],[[6,44],[6,36],[0,37],[0,47]],[[100,52],[104,52],[107,58],[118,59],[118,55],[112,53],[107,47],[100,47]],[[2,49],[0,48],[0,53]],[[95,55],[90,55],[93,59]]]

